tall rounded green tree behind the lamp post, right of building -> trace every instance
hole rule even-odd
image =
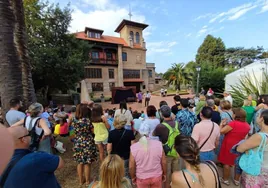
[[[210,62],[212,65],[224,66],[226,63],[224,54],[225,45],[222,39],[208,35],[198,48],[196,63]]]

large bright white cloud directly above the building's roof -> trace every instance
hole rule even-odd
[[[105,35],[119,36],[114,30],[123,19],[128,19],[128,8],[119,7],[111,4],[109,0],[92,1],[83,0],[95,9],[89,11],[82,11],[78,6],[72,6],[72,22],[69,28],[70,32],[83,31],[86,26],[104,30]],[[106,7],[105,9],[102,9]],[[145,16],[133,12],[132,20],[136,22],[145,22]],[[144,30],[144,36],[149,36],[151,30]]]

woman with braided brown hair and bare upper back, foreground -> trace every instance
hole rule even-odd
[[[177,136],[175,148],[186,168],[172,174],[172,188],[221,187],[216,165],[212,161],[201,163],[199,147],[193,138],[184,135]]]

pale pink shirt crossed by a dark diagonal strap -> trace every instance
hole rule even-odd
[[[193,129],[192,138],[197,142],[200,147],[208,138],[212,129],[211,120],[202,120],[196,124]],[[206,144],[200,150],[201,152],[212,151],[216,148],[216,140],[220,138],[220,127],[217,123],[214,123],[214,130],[206,142]]]

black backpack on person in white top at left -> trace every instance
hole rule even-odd
[[[33,126],[32,123],[33,123],[34,119],[35,118],[31,118],[30,123],[29,123],[29,128],[28,128],[29,134],[31,135],[31,143],[30,143],[30,146],[29,146],[29,149],[31,151],[37,151],[38,150],[40,140],[42,139],[42,137],[44,135],[44,130],[42,130],[41,134],[38,135],[38,134],[36,134],[36,129],[35,129],[36,126],[39,125],[39,122],[40,122],[41,118],[38,117],[37,120],[35,121],[34,126]],[[27,117],[24,119],[23,126],[27,129],[27,127],[25,125],[26,120],[27,120]]]

